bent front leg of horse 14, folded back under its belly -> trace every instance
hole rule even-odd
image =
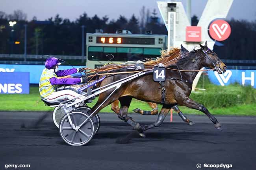
[[[148,130],[148,129],[160,126],[162,124],[163,120],[165,119],[165,117],[167,116],[168,112],[170,111],[170,109],[171,109],[171,106],[164,104],[163,107],[161,108],[161,111],[158,115],[156,122],[142,126],[141,127],[142,130]]]

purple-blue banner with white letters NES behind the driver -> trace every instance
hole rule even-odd
[[[29,73],[0,72],[0,94],[29,94]]]

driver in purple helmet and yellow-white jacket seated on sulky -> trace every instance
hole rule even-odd
[[[73,90],[57,91],[56,85],[79,84],[82,82],[87,82],[86,77],[65,78],[67,75],[83,72],[83,70],[86,68],[58,70],[58,65],[60,64],[61,63],[59,60],[55,57],[49,57],[45,61],[45,69],[43,69],[39,82],[39,92],[41,97],[47,99],[48,101],[64,101],[73,99],[74,97],[80,95]],[[83,98],[84,96],[79,97],[78,99]]]

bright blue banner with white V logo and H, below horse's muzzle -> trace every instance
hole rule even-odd
[[[255,75],[256,70],[228,69],[223,74],[218,74],[216,71],[208,71],[210,81],[221,86],[237,82],[241,85],[250,85],[256,88],[254,83]]]

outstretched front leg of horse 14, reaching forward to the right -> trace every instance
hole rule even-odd
[[[190,99],[189,97],[186,97],[182,101],[182,103],[179,103],[179,105],[187,106],[189,108],[196,109],[196,110],[199,110],[199,111],[203,112],[204,114],[206,114],[209,117],[211,122],[213,122],[214,127],[216,129],[222,130],[221,123],[218,122],[217,119],[213,115],[211,115],[211,113],[208,111],[208,109],[206,107],[204,107],[202,104],[199,104],[199,103],[193,101],[192,99]]]

